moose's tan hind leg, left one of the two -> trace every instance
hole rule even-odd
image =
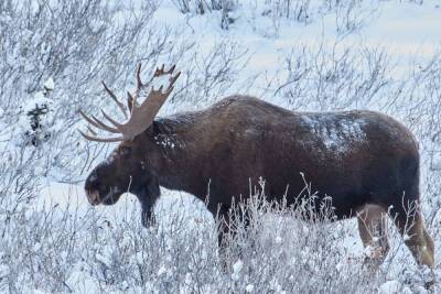
[[[357,214],[357,221],[363,246],[372,249],[368,261],[379,265],[389,251],[386,211],[377,205],[365,205]]]

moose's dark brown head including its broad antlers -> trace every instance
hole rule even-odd
[[[180,76],[180,72],[173,76],[175,66],[164,70],[164,65],[157,68],[152,78],[143,83],[141,80],[141,65],[137,68],[137,90],[132,95],[128,92],[127,108],[121,104],[117,96],[103,81],[105,90],[121,110],[126,122],[117,122],[104,110],[103,116],[111,123],[105,123],[95,116],[87,116],[82,110],[79,113],[89,123],[90,134],[79,131],[80,134],[96,142],[120,142],[108,159],[95,167],[85,183],[87,198],[92,205],[112,205],[118,202],[121,195],[130,192],[138,196],[142,204],[148,205],[149,194],[159,195],[159,183],[154,166],[159,166],[161,151],[153,139],[153,119],[159,112],[166,98],[173,91],[173,85]],[[168,77],[168,86],[159,89],[153,88],[155,79]],[[141,92],[149,89],[146,99],[140,102]],[[107,131],[112,137],[100,138],[92,128]],[[149,217],[149,216],[147,216]]]

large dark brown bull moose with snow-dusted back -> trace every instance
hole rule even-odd
[[[157,68],[148,83],[137,68],[137,89],[127,107],[103,81],[121,110],[120,123],[79,111],[90,141],[120,142],[85,183],[92,205],[114,205],[135,194],[144,226],[160,186],[209,202],[207,209],[227,224],[234,197],[250,197],[249,185],[265,178],[267,199],[294,204],[308,177],[318,205],[332,198],[335,218],[357,217],[365,247],[383,261],[389,246],[384,216],[390,216],[419,264],[434,265],[434,246],[420,209],[419,151],[412,133],[397,120],[374,111],[294,112],[263,100],[234,95],[192,112],[155,118],[180,76]],[[166,80],[164,89],[152,86]],[[141,101],[141,96],[144,97]],[[129,111],[127,111],[127,108]],[[96,129],[112,133],[98,137]],[[228,226],[220,229],[222,233]],[[222,239],[222,238],[220,238]]]

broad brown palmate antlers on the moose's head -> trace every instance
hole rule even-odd
[[[127,119],[125,123],[117,122],[112,118],[110,118],[103,109],[103,116],[112,124],[108,126],[103,121],[98,120],[95,116],[86,116],[82,110],[79,113],[82,117],[93,127],[97,129],[101,129],[104,131],[119,134],[117,137],[110,138],[98,138],[96,132],[90,128],[87,127],[92,135],[84,133],[83,131],[78,130],[79,133],[90,141],[97,142],[118,142],[118,141],[129,141],[132,140],[136,135],[142,133],[147,128],[149,128],[157,113],[161,109],[162,105],[165,102],[166,98],[173,90],[173,85],[181,75],[179,72],[175,76],[173,75],[175,66],[173,65],[169,70],[164,70],[164,65],[161,68],[157,68],[152,78],[148,83],[142,83],[141,80],[141,64],[138,65],[137,68],[137,90],[135,95],[130,92],[127,94],[127,105],[130,110],[130,117],[127,115],[125,106],[118,100],[117,96],[107,87],[107,85],[103,81],[105,90],[109,94],[111,99],[117,104],[118,108],[121,110],[122,115]],[[153,88],[151,85],[153,80],[161,76],[170,75],[169,78],[169,86],[166,87],[165,91],[162,91],[163,86],[161,86],[158,90]],[[138,99],[143,88],[150,86],[150,92],[147,96],[146,100],[139,105]]]

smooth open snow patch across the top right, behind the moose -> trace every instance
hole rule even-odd
[[[273,21],[270,17],[261,15],[262,11],[268,9],[265,1],[239,3],[234,12],[237,19],[228,32],[220,30],[215,20],[207,15],[193,15],[190,19],[175,15],[175,10],[166,2],[155,13],[155,20],[186,29],[184,34],[197,40],[206,48],[209,48],[217,39],[228,36],[238,40],[240,45],[252,53],[247,68],[247,74],[252,76],[258,73],[275,73],[284,56],[299,45],[333,46],[336,41],[347,45],[381,44],[397,57],[396,59],[402,62],[402,66],[407,66],[406,59],[410,55],[418,54],[423,57],[437,52],[440,43],[437,28],[440,28],[441,22],[439,10],[433,9],[434,3],[437,1],[424,2],[423,6],[410,2],[399,4],[396,1],[381,2],[378,18],[374,18],[359,32],[343,40],[335,31],[333,13],[319,17],[306,25],[280,20],[278,26],[276,25],[278,32],[272,32],[276,30]]]

